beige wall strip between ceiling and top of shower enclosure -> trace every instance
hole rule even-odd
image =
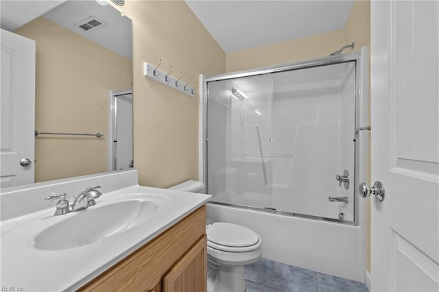
[[[227,53],[227,72],[287,64],[329,56],[344,45],[344,29],[273,45]]]

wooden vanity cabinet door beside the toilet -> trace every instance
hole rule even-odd
[[[207,291],[207,236],[202,238],[163,276],[163,292]]]

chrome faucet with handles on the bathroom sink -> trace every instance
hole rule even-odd
[[[54,199],[60,199],[56,203],[56,210],[54,215],[64,215],[69,212],[79,211],[90,206],[95,206],[95,199],[102,196],[102,193],[97,191],[96,188],[101,186],[93,186],[93,188],[86,188],[84,191],[73,197],[73,202],[69,204],[66,199],[66,193],[60,193],[59,195],[49,195],[45,197],[45,201],[53,201]]]

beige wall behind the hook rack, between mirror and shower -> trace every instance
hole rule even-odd
[[[143,76],[143,62],[174,66],[192,85],[224,73],[226,56],[184,1],[126,1],[133,26],[134,167],[139,182],[167,187],[198,180],[198,101]]]

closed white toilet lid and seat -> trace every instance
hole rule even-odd
[[[207,246],[223,252],[251,252],[262,245],[261,236],[233,223],[213,223],[206,233]]]

